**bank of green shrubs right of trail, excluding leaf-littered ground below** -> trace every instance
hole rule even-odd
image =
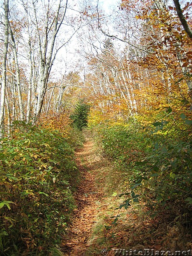
[[[165,122],[161,129],[154,126],[146,129],[132,120],[124,126],[99,126],[97,141],[103,154],[113,162],[114,172],[119,173],[121,188],[124,186],[122,195],[128,197],[120,208],[127,209],[130,201],[142,200],[150,213],[165,212],[172,219],[180,217],[189,224],[192,221],[190,128],[180,120]]]

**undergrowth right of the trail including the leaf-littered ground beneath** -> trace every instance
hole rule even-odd
[[[122,198],[103,223],[102,247],[156,244],[157,250],[190,249],[192,147],[190,125],[184,121],[173,122],[169,117],[143,126],[131,119],[121,125],[94,127],[100,151],[113,166],[105,186],[116,201]]]

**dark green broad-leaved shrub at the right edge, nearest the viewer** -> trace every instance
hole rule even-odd
[[[153,203],[148,201],[150,209],[165,207],[173,216],[192,221],[191,157],[191,141],[165,141],[162,145],[156,144],[153,152],[137,163],[145,169],[140,182],[143,179],[146,193],[153,199]]]

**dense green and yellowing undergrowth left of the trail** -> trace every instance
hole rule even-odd
[[[79,143],[77,134],[74,142],[25,123],[0,140],[1,256],[61,255],[57,245],[76,207],[73,147]]]

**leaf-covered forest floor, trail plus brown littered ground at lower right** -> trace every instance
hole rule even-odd
[[[119,214],[116,208],[123,200],[116,197],[121,193],[120,173],[99,156],[90,139],[76,152],[76,159],[81,183],[75,192],[77,209],[73,224],[62,243],[65,256],[128,255],[123,251],[115,253],[116,248],[172,252],[192,248],[183,227],[169,224],[169,219],[160,214],[150,218],[142,204],[121,209],[121,216],[113,224],[114,216]]]

